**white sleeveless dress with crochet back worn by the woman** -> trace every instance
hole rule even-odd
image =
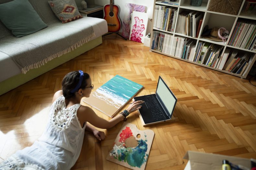
[[[86,123],[76,112],[80,104],[66,108],[64,96],[54,101],[45,131],[32,146],[17,151],[0,164],[0,170],[69,170],[80,155]]]

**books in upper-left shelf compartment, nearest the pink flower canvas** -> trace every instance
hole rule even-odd
[[[170,7],[170,6],[156,5],[153,28],[173,32],[176,15],[177,15],[177,8]]]

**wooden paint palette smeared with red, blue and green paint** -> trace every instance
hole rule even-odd
[[[139,130],[136,125],[125,122],[107,160],[134,170],[144,170],[154,135],[153,130]]]

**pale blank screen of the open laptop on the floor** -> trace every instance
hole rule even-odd
[[[169,114],[172,115],[172,112],[177,102],[177,98],[160,76],[158,79],[156,94],[161,99],[162,103],[165,105]]]

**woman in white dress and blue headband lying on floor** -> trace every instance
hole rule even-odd
[[[105,120],[91,108],[80,105],[82,97],[90,96],[91,83],[90,76],[81,70],[65,75],[62,90],[53,96],[49,121],[42,136],[32,146],[17,151],[2,162],[0,170],[69,170],[80,155],[85,130],[92,132],[98,140],[105,138],[104,132],[87,125],[87,122],[109,129],[141,108],[142,101],[136,101],[121,114]]]

